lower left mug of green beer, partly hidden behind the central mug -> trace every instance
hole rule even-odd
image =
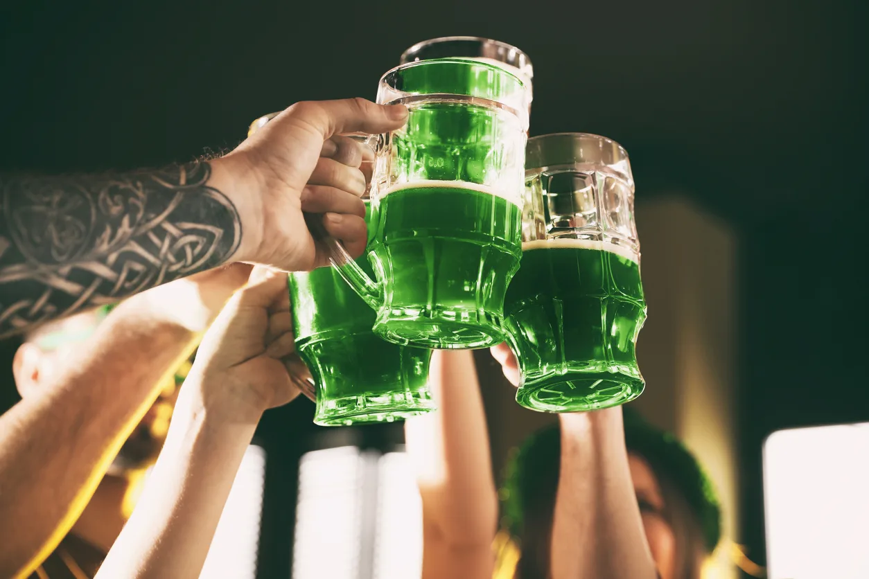
[[[248,134],[274,116],[257,119]],[[363,201],[370,224],[370,202]],[[369,241],[372,232],[369,227]],[[355,263],[373,273],[364,256]],[[392,422],[434,410],[428,391],[431,350],[376,336],[375,313],[332,267],[290,273],[288,283],[295,349],[314,378],[316,424]]]

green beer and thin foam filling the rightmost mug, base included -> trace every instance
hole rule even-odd
[[[635,345],[646,319],[640,266],[612,243],[522,244],[507,289],[510,345],[524,377],[516,400],[541,411],[596,410],[643,390]]]

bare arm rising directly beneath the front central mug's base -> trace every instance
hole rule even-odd
[[[405,424],[422,497],[422,576],[488,579],[498,501],[473,353],[435,351],[429,385],[438,411]]]

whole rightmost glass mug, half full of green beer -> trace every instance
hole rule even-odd
[[[507,290],[516,401],[589,411],[640,395],[635,345],[646,320],[634,178],[627,152],[598,135],[528,140],[522,266]]]

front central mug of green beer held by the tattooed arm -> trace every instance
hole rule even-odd
[[[527,90],[490,63],[443,58],[388,71],[381,104],[408,122],[375,138],[371,279],[340,246],[333,263],[396,344],[474,348],[505,338],[521,258]],[[337,249],[337,251],[335,251]]]

